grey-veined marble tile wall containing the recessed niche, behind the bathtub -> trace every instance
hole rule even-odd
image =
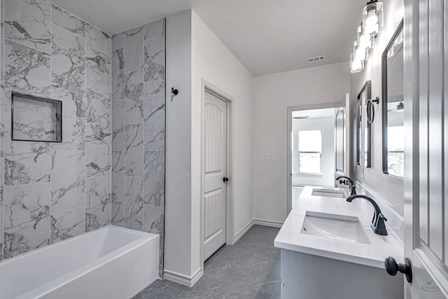
[[[124,211],[111,198],[119,158],[111,156],[111,37],[48,0],[1,6],[0,260],[109,225],[112,210]],[[11,141],[12,91],[62,101],[62,143]],[[124,193],[124,183],[120,188]]]

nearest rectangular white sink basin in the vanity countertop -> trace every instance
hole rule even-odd
[[[307,211],[300,233],[337,239],[348,242],[370,244],[358,217],[325,214]]]

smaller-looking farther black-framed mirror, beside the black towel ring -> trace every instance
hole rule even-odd
[[[371,81],[366,81],[358,95],[358,134],[357,134],[357,162],[363,167],[370,167],[370,128],[367,121],[367,102],[372,98]]]

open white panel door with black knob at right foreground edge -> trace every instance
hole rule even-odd
[[[406,297],[448,296],[448,36],[444,0],[405,0]],[[402,261],[400,261],[402,263]]]

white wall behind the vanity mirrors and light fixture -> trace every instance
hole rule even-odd
[[[365,63],[364,71],[351,74],[351,104],[356,106],[356,97],[365,81],[372,81],[372,97],[381,98],[381,55],[400,24],[404,15],[402,0],[384,1],[384,27],[375,41],[369,60]],[[353,29],[355,30],[355,29]],[[353,36],[354,38],[354,36]],[[406,105],[405,105],[406,106]],[[356,113],[353,110],[353,123]],[[364,169],[364,179],[360,174],[360,166],[356,165],[356,147],[353,144],[353,174],[356,180],[375,190],[400,213],[403,212],[403,181],[383,173],[382,170],[382,136],[381,136],[381,103],[375,105],[375,120],[372,124],[372,167]],[[356,134],[356,130],[353,130]],[[353,135],[356,138],[356,135]]]

